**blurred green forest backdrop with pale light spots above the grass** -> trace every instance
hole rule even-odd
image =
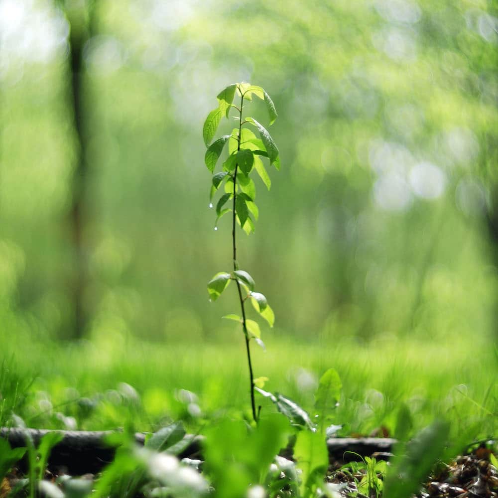
[[[74,337],[80,300],[86,337],[235,336],[201,131],[238,81],[279,113],[239,235],[275,334],[496,334],[497,46],[491,0],[1,0],[1,335]]]

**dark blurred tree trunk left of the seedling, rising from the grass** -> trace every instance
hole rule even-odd
[[[85,98],[82,91],[84,80],[83,49],[85,43],[93,34],[94,4],[66,0],[64,3],[67,19],[70,24],[70,83],[71,96],[69,103],[73,109],[74,127],[76,132],[75,166],[71,185],[72,201],[69,210],[69,226],[73,247],[73,275],[70,280],[69,295],[73,307],[73,334],[79,339],[83,336],[88,321],[84,305],[84,292],[87,284],[87,256],[84,241],[85,217],[87,206],[85,202],[88,183],[87,127],[85,113]]]

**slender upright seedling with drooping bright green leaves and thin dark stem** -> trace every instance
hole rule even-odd
[[[236,94],[240,97],[240,106],[233,104]],[[268,322],[270,327],[273,326],[274,314],[266,297],[260,292],[255,292],[254,279],[246,270],[240,269],[237,261],[236,228],[238,224],[246,234],[254,232],[254,222],[258,219],[259,211],[254,202],[256,188],[251,173],[255,170],[269,190],[271,181],[262,158],[268,159],[269,165],[273,165],[277,169],[280,168],[280,159],[278,148],[267,129],[255,119],[249,116],[244,117],[244,103],[250,102],[253,96],[264,101],[270,119],[269,124],[273,124],[277,118],[277,113],[268,94],[261,87],[249,83],[236,83],[229,85],[218,95],[218,107],[211,111],[206,118],[203,136],[208,148],[205,163],[213,175],[210,195],[211,207],[216,192],[224,186],[224,193],[216,205],[215,230],[218,230],[218,220],[225,214],[232,212],[233,270],[217,273],[208,283],[208,292],[211,300],[215,301],[232,280],[237,285],[242,316],[230,314],[223,318],[236,320],[242,324],[249,367],[252,418],[257,422],[258,414],[254,402],[254,376],[249,343],[251,339],[254,339],[260,346],[264,345],[261,342],[261,331],[258,323],[246,316],[245,303],[249,298],[256,312]],[[237,127],[232,130],[230,135],[223,135],[212,142],[222,117],[225,115],[227,119],[230,119],[232,109],[238,112],[238,116],[235,118]],[[249,126],[258,132],[259,138]],[[227,142],[228,158],[222,164],[222,171],[215,172],[216,164]],[[229,202],[231,202],[231,207],[226,207]]]

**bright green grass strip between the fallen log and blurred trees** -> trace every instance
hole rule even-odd
[[[75,423],[92,430],[132,422],[137,430],[151,430],[181,418],[195,430],[207,419],[241,410],[250,418],[244,349],[235,341],[152,344],[111,333],[79,344],[33,338],[17,344],[22,348],[0,344],[12,358],[0,387],[3,400],[16,391],[18,397],[19,389],[27,392],[14,411],[28,426]],[[333,422],[344,425],[344,435],[384,426],[395,436],[404,403],[413,433],[443,417],[455,435],[479,439],[497,435],[498,361],[490,344],[465,337],[444,343],[385,337],[368,345],[345,338],[303,343],[276,337],[267,340],[266,353],[254,350],[254,370],[269,377],[265,389],[310,409],[317,377],[335,368],[343,395]],[[258,401],[263,410],[273,410],[265,399]]]

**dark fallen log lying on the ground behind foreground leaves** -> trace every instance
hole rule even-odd
[[[64,470],[71,475],[95,474],[113,461],[116,447],[110,446],[106,439],[115,434],[115,431],[50,431],[46,429],[17,429],[0,428],[0,437],[6,439],[11,448],[26,446],[26,437],[29,437],[35,446],[48,432],[58,432],[63,435],[62,440],[53,447],[49,458],[49,468]],[[136,444],[143,446],[146,434],[134,434]],[[185,449],[178,455],[179,458],[201,458],[202,436],[187,434]],[[329,461],[350,462],[359,457],[375,455],[386,459],[390,456],[392,447],[396,443],[391,438],[329,438],[327,449]]]

